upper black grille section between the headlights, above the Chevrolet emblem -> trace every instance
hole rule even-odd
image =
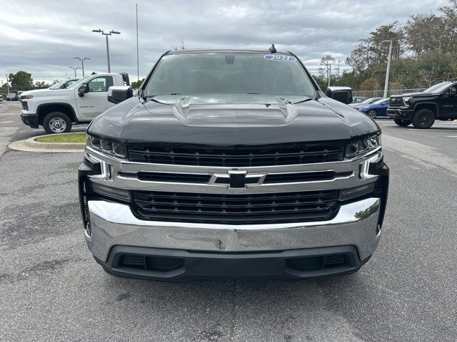
[[[174,144],[129,144],[129,160],[172,165],[225,167],[273,166],[338,162],[343,160],[341,143],[291,142],[262,146],[206,146]]]

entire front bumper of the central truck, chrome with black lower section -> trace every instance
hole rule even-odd
[[[144,221],[126,204],[91,200],[91,235],[86,231],[86,242],[99,264],[121,276],[185,281],[346,274],[357,271],[378,246],[380,202],[371,197],[343,205],[336,217],[324,222],[231,226]],[[146,264],[154,258],[182,262],[171,271],[128,267],[120,264],[124,254],[141,256]],[[336,255],[343,255],[345,263],[319,269],[288,266],[291,259],[311,258],[312,263]]]

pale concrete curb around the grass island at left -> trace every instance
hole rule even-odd
[[[25,152],[84,152],[86,144],[84,142],[38,142],[35,139],[51,136],[40,135],[26,140],[18,140],[8,145],[11,150]]]

